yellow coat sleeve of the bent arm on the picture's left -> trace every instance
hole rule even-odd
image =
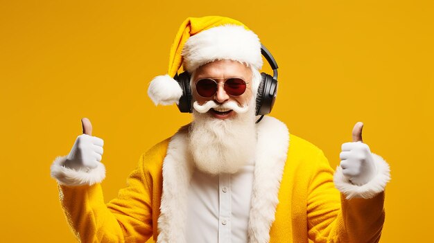
[[[153,194],[161,193],[155,190],[161,187],[161,178],[154,178],[153,174],[161,174],[154,170],[161,170],[166,147],[164,141],[141,156],[127,179],[128,186],[108,204],[99,183],[59,186],[64,214],[79,242],[146,242],[156,234],[153,219],[158,214],[152,212],[159,204],[153,204]]]

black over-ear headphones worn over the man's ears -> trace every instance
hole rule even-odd
[[[263,57],[266,57],[268,64],[272,68],[272,76],[267,73],[261,73],[261,83],[258,87],[257,98],[256,98],[256,115],[266,115],[270,114],[272,106],[275,105],[275,100],[277,96],[277,62],[274,57],[272,57],[270,51],[261,44],[261,53]],[[190,89],[190,74],[186,71],[176,74],[173,77],[174,80],[180,84],[182,89],[182,96],[177,104],[178,109],[183,113],[191,113],[191,89]],[[261,119],[259,119],[261,120]],[[258,120],[258,122],[259,122]]]

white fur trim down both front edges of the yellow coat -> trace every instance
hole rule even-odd
[[[182,127],[168,144],[163,163],[163,192],[157,242],[185,242],[186,201],[193,161],[187,149],[189,126]],[[289,132],[276,118],[265,116],[257,125],[258,150],[254,169],[249,242],[268,242],[275,221],[281,177],[289,146]]]

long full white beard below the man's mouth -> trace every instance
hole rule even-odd
[[[255,106],[234,118],[220,120],[193,111],[189,150],[196,168],[208,174],[235,173],[254,160],[257,144]]]

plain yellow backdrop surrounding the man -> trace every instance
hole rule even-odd
[[[89,117],[105,141],[105,198],[139,155],[188,123],[155,107],[186,17],[225,15],[279,64],[272,116],[339,163],[356,121],[392,168],[381,242],[428,242],[433,200],[434,1],[0,2],[0,241],[75,242],[49,166]]]

